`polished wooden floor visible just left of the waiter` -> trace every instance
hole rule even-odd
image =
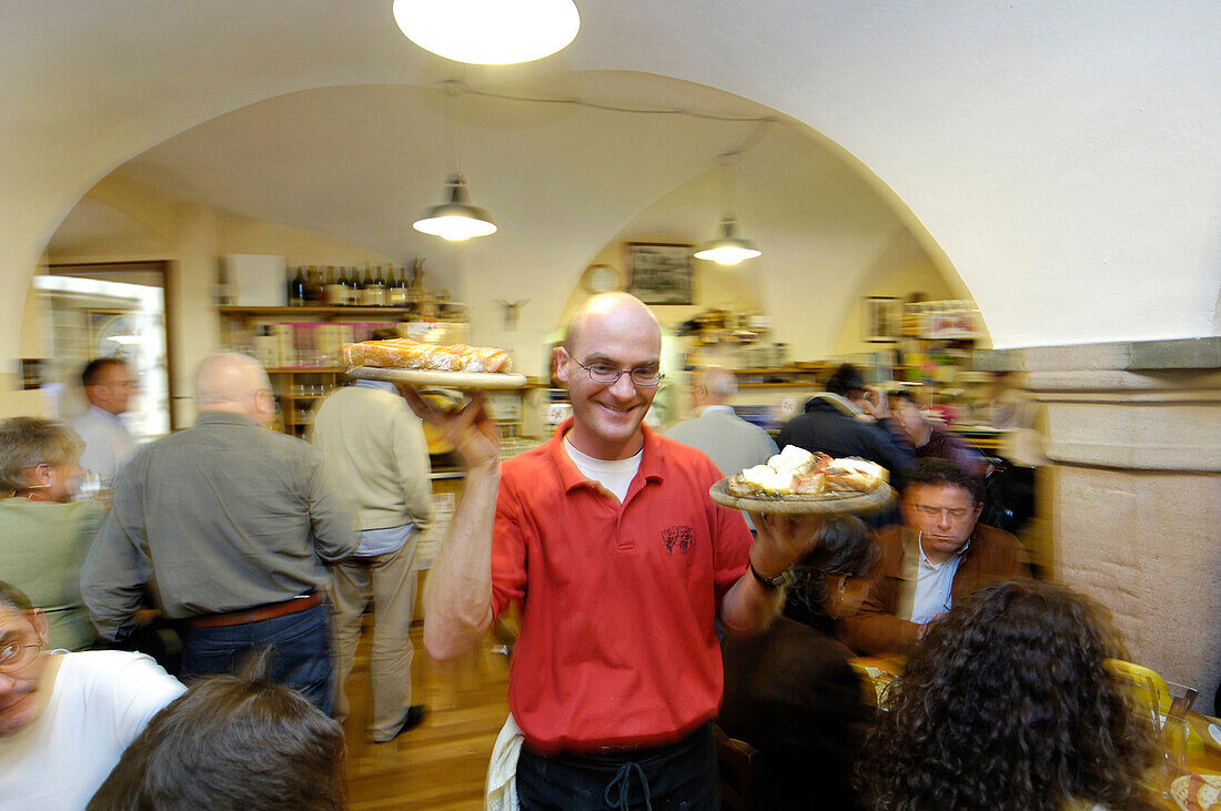
[[[369,617],[366,617],[369,620]],[[491,635],[457,662],[437,663],[411,628],[411,702],[424,704],[424,723],[385,744],[369,738],[372,701],[369,638],[360,639],[348,678],[350,716],[348,800],[352,809],[482,809],[492,745],[508,716],[509,659]]]

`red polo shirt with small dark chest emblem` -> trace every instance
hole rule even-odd
[[[521,600],[509,709],[540,751],[658,745],[720,707],[713,621],[751,534],[718,507],[697,450],[645,428],[623,504],[563,448],[504,462],[492,541],[492,609]]]

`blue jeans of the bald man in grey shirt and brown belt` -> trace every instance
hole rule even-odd
[[[326,602],[263,622],[186,629],[181,676],[232,673],[247,652],[263,646],[275,649],[271,682],[299,690],[331,715],[331,606]]]

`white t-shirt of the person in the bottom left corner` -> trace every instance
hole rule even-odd
[[[186,689],[143,654],[62,654],[46,710],[0,738],[0,809],[81,811],[149,718]]]

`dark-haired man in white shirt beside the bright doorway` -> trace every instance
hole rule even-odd
[[[98,357],[81,371],[81,385],[89,400],[89,410],[72,423],[84,441],[81,466],[98,476],[101,487],[109,490],[136,455],[136,438],[121,417],[131,407],[139,384],[127,361]]]

